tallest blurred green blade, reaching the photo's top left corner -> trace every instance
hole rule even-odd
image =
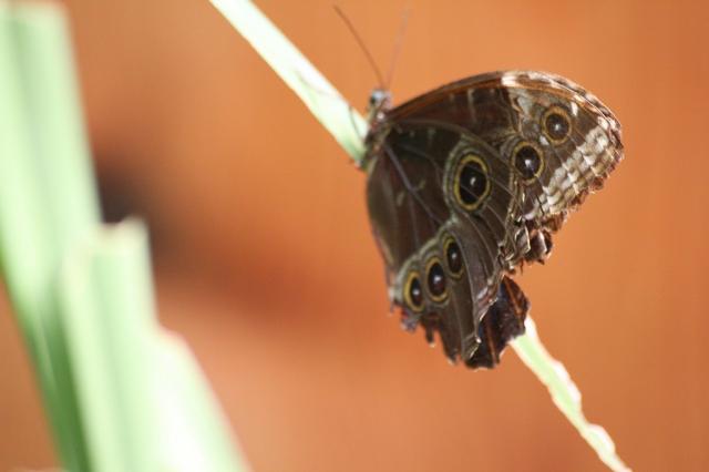
[[[0,3],[0,253],[62,462],[86,470],[53,284],[75,238],[99,220],[61,10]]]

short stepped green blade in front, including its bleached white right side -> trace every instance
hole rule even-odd
[[[63,275],[63,320],[95,470],[246,471],[194,357],[156,321],[143,225],[102,229]]]

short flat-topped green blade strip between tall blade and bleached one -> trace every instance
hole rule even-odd
[[[97,230],[68,258],[59,287],[88,449],[99,471],[160,470],[151,394],[157,324],[146,239],[134,222]]]

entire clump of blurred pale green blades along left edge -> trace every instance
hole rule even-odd
[[[145,229],[100,225],[69,38],[58,3],[0,0],[0,263],[61,462],[247,470],[157,325]]]

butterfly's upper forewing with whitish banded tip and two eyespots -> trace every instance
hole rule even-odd
[[[508,268],[523,258],[543,259],[551,233],[603,186],[623,158],[620,125],[613,113],[579,85],[542,72],[464,79],[393,109],[387,120],[462,127],[508,163],[522,188],[520,216],[528,233],[527,244],[506,255]]]

